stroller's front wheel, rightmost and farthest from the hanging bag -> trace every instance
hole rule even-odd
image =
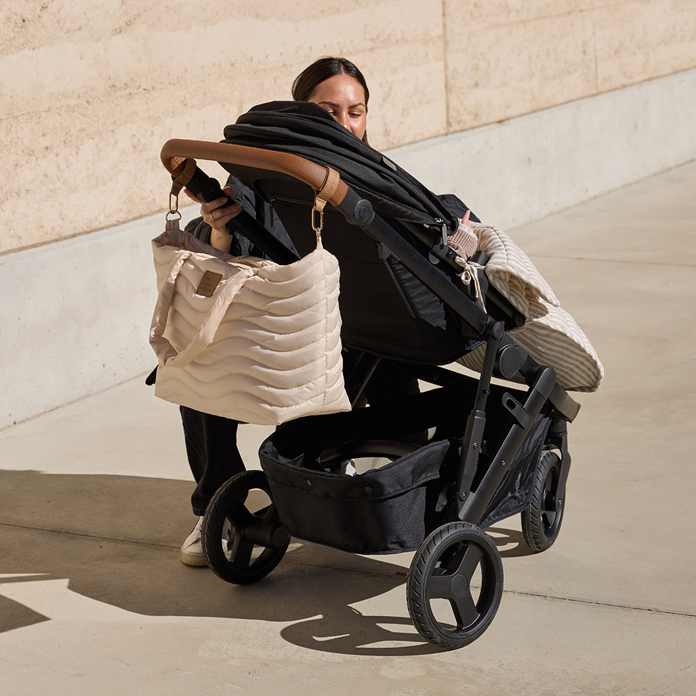
[[[565,508],[565,487],[558,490],[561,460],[556,452],[541,454],[532,480],[532,498],[522,511],[522,535],[536,553],[546,551],[560,532]]]

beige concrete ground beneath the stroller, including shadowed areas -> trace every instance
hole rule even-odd
[[[184,566],[177,409],[139,378],[0,432],[0,692],[696,693],[695,191],[696,162],[512,232],[606,379],[577,397],[553,548],[490,530],[505,592],[479,640],[420,639],[411,554],[296,542],[248,587]],[[249,466],[266,432],[242,427]]]

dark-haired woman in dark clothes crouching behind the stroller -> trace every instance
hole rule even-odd
[[[369,97],[370,92],[363,74],[345,58],[320,58],[303,70],[292,84],[292,98],[295,101],[319,104],[365,143]],[[237,203],[227,205],[226,198],[203,203],[200,206],[202,217],[189,223],[187,230],[220,251],[234,255],[262,255],[247,239],[228,231],[228,224],[239,215],[243,207],[257,217],[259,214],[265,216],[265,222],[271,219],[269,211],[263,210],[263,202],[257,200],[253,191],[233,177],[230,177],[223,191]],[[196,200],[193,193],[186,193],[189,198]],[[291,246],[277,216],[271,226],[267,224],[267,228]],[[408,390],[412,388],[413,385],[410,385]],[[186,406],[182,406],[180,411],[189,466],[196,480],[191,507],[193,514],[199,518],[181,547],[181,560],[187,565],[205,566],[200,541],[205,508],[215,491],[231,476],[244,471],[245,467],[237,449],[237,421],[193,411]]]

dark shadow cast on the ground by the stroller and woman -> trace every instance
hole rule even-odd
[[[0,631],[51,618],[3,596],[3,585],[35,582],[41,592],[42,581],[68,578],[70,591],[136,614],[290,624],[280,629],[285,640],[319,651],[434,651],[411,624],[405,587],[400,615],[353,606],[405,585],[408,565],[294,542],[255,585],[184,566],[190,492],[176,480],[0,471]]]

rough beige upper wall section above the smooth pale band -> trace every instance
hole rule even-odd
[[[696,67],[693,0],[6,0],[0,253],[166,205],[159,148],[217,140],[325,54],[396,148]],[[61,215],[56,210],[61,210]]]

